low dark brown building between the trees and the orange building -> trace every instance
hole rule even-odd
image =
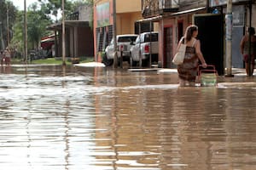
[[[93,54],[92,8],[80,6],[65,20],[67,58],[91,57]],[[62,22],[48,26],[55,31],[55,56],[62,56]]]

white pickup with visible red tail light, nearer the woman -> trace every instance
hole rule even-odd
[[[143,32],[141,33],[130,50],[130,63],[137,65],[142,59],[143,66],[148,66],[150,58],[151,64],[158,62],[159,44],[158,32]]]

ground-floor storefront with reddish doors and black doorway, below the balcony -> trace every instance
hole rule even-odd
[[[243,68],[239,44],[241,37],[248,26],[255,27],[255,4],[252,10],[249,8],[251,1],[234,0],[233,1],[233,27],[232,27],[232,66]],[[159,60],[161,67],[175,68],[172,64],[172,56],[176,52],[177,43],[183,36],[187,26],[195,24],[195,16],[201,15],[201,26],[199,26],[199,39],[201,39],[201,48],[209,64],[217,65],[220,74],[224,74],[225,68],[225,13],[226,1],[209,0],[208,6],[191,8],[189,10],[179,11],[172,14],[163,14],[151,19],[141,20],[150,21],[159,24]],[[251,11],[250,11],[251,10]],[[250,16],[252,14],[252,16]],[[216,17],[215,17],[216,16]],[[158,20],[155,20],[157,18]],[[205,19],[204,19],[205,18]],[[205,21],[203,21],[205,20]],[[211,21],[209,21],[211,20]],[[207,22],[209,21],[209,22]],[[196,24],[199,24],[198,22]],[[199,24],[200,25],[200,24]],[[210,26],[206,28],[206,26]],[[211,39],[214,41],[211,42]],[[216,48],[218,46],[218,48]],[[215,47],[216,49],[214,49]],[[216,52],[216,53],[212,53]],[[218,52],[218,53],[217,53]]]

